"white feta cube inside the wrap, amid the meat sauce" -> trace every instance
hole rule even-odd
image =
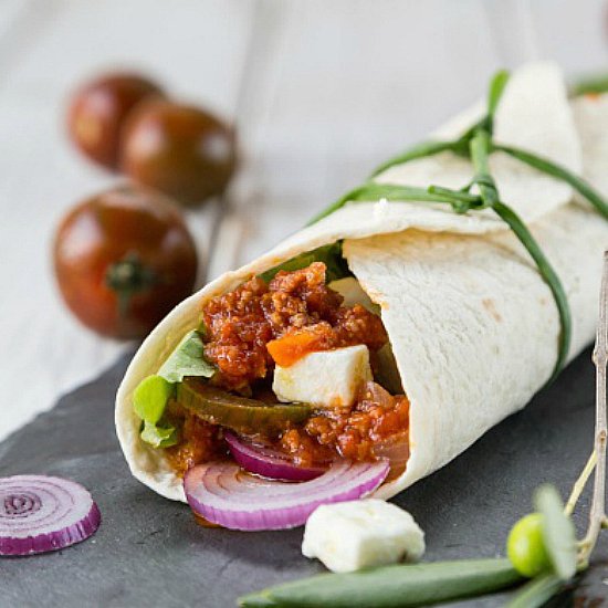
[[[280,401],[352,406],[361,384],[371,379],[369,352],[361,344],[310,353],[290,367],[276,366],[272,390]]]

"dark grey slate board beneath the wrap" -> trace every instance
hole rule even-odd
[[[198,526],[187,506],[160,499],[128,473],[114,434],[114,392],[127,358],[63,397],[0,444],[0,475],[46,473],[88,488],[97,534],[62,552],[0,560],[0,606],[234,606],[244,593],[321,572],[300,553],[302,530],[239,533]],[[590,448],[594,368],[581,355],[549,389],[443,470],[396,499],[427,532],[427,558],[496,556],[543,481],[563,493]],[[588,506],[588,494],[580,504]],[[578,524],[584,524],[579,518]],[[608,597],[608,543],[575,595]],[[459,602],[499,606],[505,596]],[[563,598],[559,605],[572,605]]]

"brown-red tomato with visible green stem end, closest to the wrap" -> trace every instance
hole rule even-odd
[[[95,332],[140,338],[192,293],[195,243],[163,195],[119,187],[74,207],[54,242],[60,291]]]

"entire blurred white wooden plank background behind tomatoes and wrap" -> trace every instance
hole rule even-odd
[[[64,134],[82,78],[141,69],[237,123],[243,150],[210,274],[259,254],[502,65],[608,67],[601,0],[0,0],[0,438],[125,345],[63,310],[62,213],[116,181]],[[201,250],[217,206],[190,214]],[[112,403],[108,403],[112,407]]]

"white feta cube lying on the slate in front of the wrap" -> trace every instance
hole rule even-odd
[[[407,511],[385,501],[325,504],[306,522],[302,553],[335,573],[350,573],[419,559],[424,533]]]

